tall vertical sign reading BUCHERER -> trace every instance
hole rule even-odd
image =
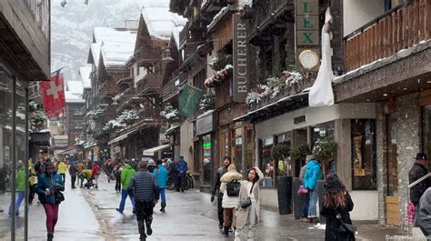
[[[234,25],[234,102],[245,103],[249,92],[250,79],[247,68],[247,32],[246,22],[240,14],[233,15]]]

